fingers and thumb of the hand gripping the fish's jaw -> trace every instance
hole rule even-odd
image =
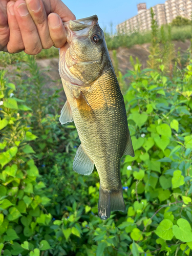
[[[7,16],[10,30],[7,51],[16,53],[24,50],[32,55],[53,45],[57,48],[65,45],[66,31],[62,22],[75,19],[61,0],[10,1],[7,3]]]

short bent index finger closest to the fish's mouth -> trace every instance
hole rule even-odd
[[[60,48],[66,43],[66,29],[62,20],[56,13],[50,13],[48,16],[49,33],[54,42],[54,47]]]

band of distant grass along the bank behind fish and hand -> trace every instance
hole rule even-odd
[[[172,27],[172,40],[182,40],[191,38],[192,28],[190,25],[183,27]],[[165,33],[168,33],[168,28],[165,26]],[[110,35],[105,33],[105,40],[109,50],[117,49],[119,47],[131,48],[134,45],[142,45],[151,42],[151,31],[145,31],[143,33],[135,32],[131,35],[126,34],[114,34]],[[161,41],[160,30],[159,40]],[[42,50],[35,56],[36,59],[53,58],[58,57],[58,49],[52,47],[49,50]],[[9,54],[0,52],[0,66],[11,65],[15,62],[26,61],[26,54],[24,52],[17,54]]]

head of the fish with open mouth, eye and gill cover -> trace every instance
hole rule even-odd
[[[70,20],[64,25],[67,44],[59,50],[60,76],[72,86],[90,87],[110,59],[98,17]]]

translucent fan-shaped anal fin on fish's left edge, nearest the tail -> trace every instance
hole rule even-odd
[[[73,170],[78,174],[90,175],[93,172],[94,163],[84,152],[82,146],[78,147],[75,159],[73,162]]]

